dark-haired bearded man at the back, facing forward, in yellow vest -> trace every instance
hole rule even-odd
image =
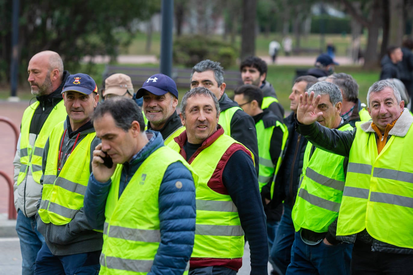
[[[278,102],[273,85],[266,81],[267,70],[267,63],[258,56],[249,56],[240,65],[242,82],[259,87],[263,92],[264,99],[261,108],[270,109],[282,119],[284,118],[284,108]]]

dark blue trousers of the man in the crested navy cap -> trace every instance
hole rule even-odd
[[[35,274],[97,275],[100,270],[99,251],[55,256],[46,244],[37,254]]]

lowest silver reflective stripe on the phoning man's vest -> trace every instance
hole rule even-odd
[[[128,270],[134,272],[150,272],[152,268],[152,260],[130,260],[116,257],[106,257],[106,264],[104,254],[100,255],[100,264],[107,268]]]

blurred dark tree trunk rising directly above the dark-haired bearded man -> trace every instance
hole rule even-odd
[[[242,0],[241,60],[255,55],[257,0]]]

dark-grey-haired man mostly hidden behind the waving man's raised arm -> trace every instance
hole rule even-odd
[[[357,121],[371,120],[366,104],[358,99],[358,84],[351,75],[347,73],[333,73],[325,81],[337,85],[343,96],[343,107],[341,117],[348,120],[351,126],[355,126]]]

